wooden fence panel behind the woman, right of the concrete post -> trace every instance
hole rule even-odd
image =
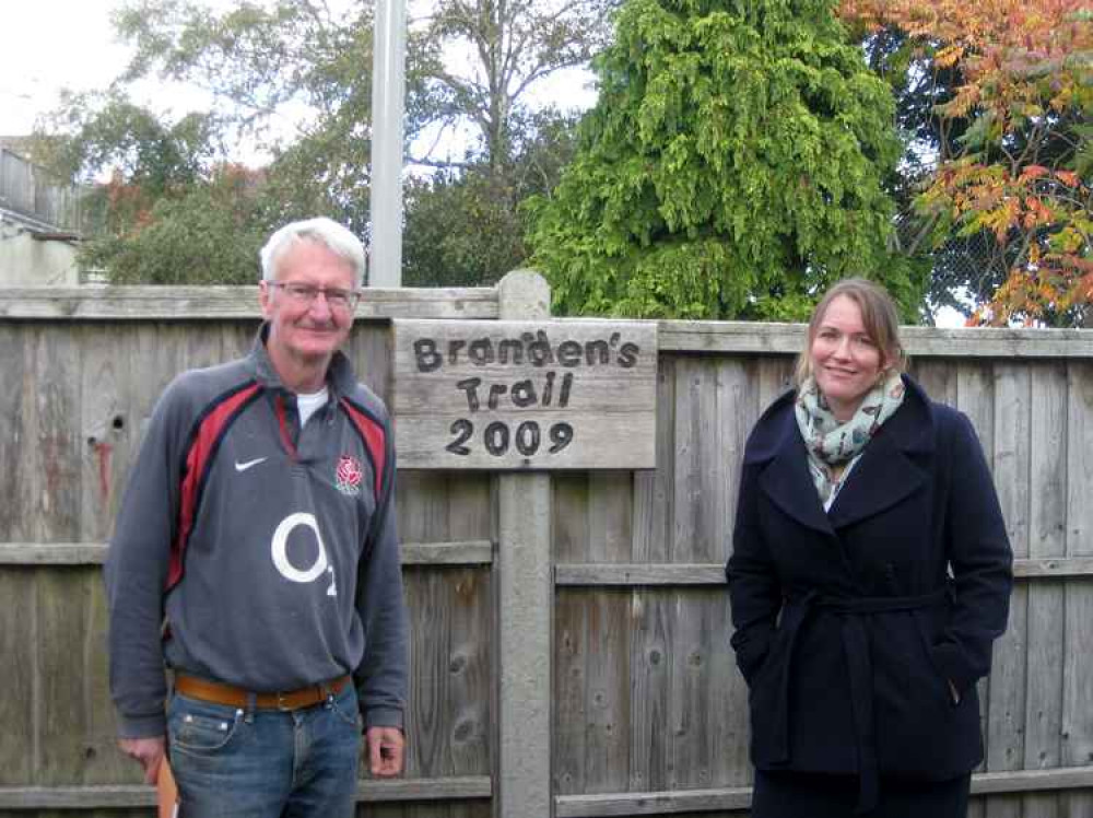
[[[728,648],[721,568],[744,440],[788,385],[802,336],[754,325],[750,337],[739,332],[661,324],[658,464],[635,474],[632,499],[598,491],[588,476],[555,477],[559,816],[747,810],[747,689]],[[1089,503],[1078,498],[1093,476],[1082,455],[1093,341],[1069,334],[1054,340],[1071,346],[1058,347],[1051,334],[1019,334],[1023,344],[1042,343],[1014,354],[1007,334],[908,336],[912,374],[976,426],[1019,560],[1010,628],[982,682],[987,757],[969,814],[1091,815],[1093,664],[1078,647],[1093,619],[1091,563],[1067,557],[1091,548],[1081,537]],[[593,535],[600,505],[632,509],[628,548]],[[627,609],[630,633],[615,636]],[[611,685],[591,683],[604,668]],[[630,736],[625,788],[616,769],[589,758],[606,696],[630,697],[628,711],[610,709],[612,732]]]

